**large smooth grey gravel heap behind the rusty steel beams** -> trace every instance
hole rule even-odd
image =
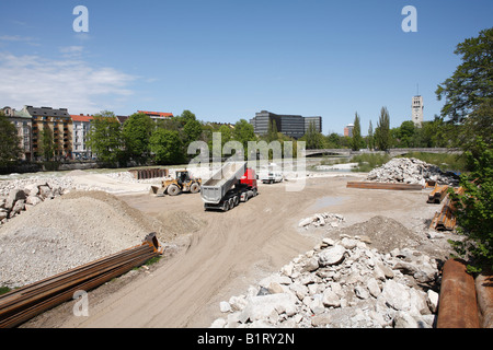
[[[22,287],[138,245],[152,232],[112,195],[70,192],[0,226],[0,285]]]

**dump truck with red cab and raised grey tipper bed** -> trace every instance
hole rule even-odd
[[[228,162],[202,185],[205,210],[228,211],[257,196],[256,175],[246,162]]]

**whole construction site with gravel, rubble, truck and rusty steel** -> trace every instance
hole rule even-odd
[[[491,277],[450,259],[457,177],[389,163],[5,178],[0,327],[492,327]]]

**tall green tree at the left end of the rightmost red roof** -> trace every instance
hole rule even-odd
[[[149,159],[149,139],[156,128],[154,121],[146,114],[133,114],[125,120],[122,137],[125,142],[127,156],[139,164],[145,164]]]

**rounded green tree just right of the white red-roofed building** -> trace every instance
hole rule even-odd
[[[124,160],[122,130],[112,112],[103,110],[94,116],[87,138],[88,148],[100,162],[116,166]]]

